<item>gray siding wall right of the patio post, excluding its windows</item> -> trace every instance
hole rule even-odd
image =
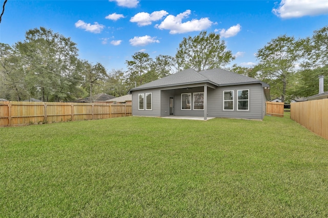
[[[249,111],[238,111],[238,90],[249,90]],[[223,91],[234,91],[234,110],[223,111]],[[263,88],[261,84],[223,86],[208,89],[208,116],[224,118],[263,119]]]

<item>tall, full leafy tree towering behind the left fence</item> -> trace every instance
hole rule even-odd
[[[67,100],[80,83],[76,43],[44,27],[26,32],[15,48],[22,55],[27,78],[42,100]]]

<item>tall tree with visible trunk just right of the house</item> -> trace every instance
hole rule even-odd
[[[256,54],[259,63],[254,68],[255,72],[265,82],[276,81],[282,84],[281,88],[279,85],[271,85],[270,89],[277,89],[282,102],[285,100],[288,81],[296,72],[296,64],[301,57],[300,46],[301,42],[294,37],[281,35],[268,42]]]

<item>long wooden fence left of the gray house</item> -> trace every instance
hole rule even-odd
[[[0,101],[0,126],[131,115],[131,104]]]

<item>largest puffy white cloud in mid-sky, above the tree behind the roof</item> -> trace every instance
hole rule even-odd
[[[182,23],[182,19],[191,14],[190,10],[186,10],[176,16],[168,15],[160,25],[155,25],[156,28],[162,30],[170,30],[170,34],[187,33],[192,31],[205,30],[213,24],[208,17],[200,19],[192,19],[186,23]]]

